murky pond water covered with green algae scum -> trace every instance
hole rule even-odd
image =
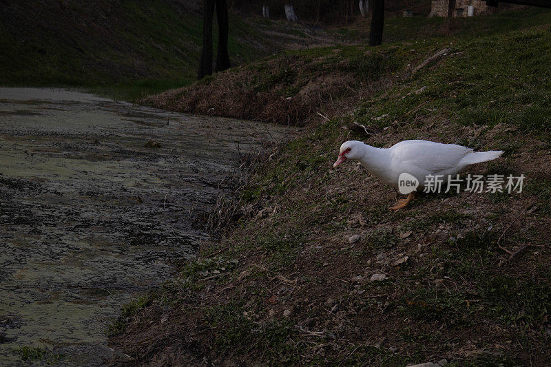
[[[194,256],[238,150],[287,129],[90,94],[0,88],[0,365],[42,346],[61,364],[114,353],[122,304]],[[146,147],[149,140],[156,147]]]

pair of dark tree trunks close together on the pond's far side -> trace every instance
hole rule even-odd
[[[226,0],[204,0],[202,14],[202,53],[197,78],[212,74],[212,20],[216,8],[218,20],[218,52],[214,70],[220,72],[229,69],[228,53],[228,6]]]

